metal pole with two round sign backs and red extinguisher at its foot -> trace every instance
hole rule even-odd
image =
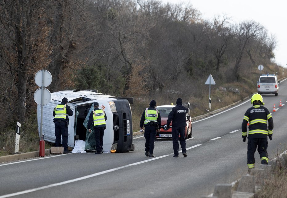
[[[47,70],[39,70],[35,74],[35,83],[41,87],[34,93],[34,100],[38,105],[41,105],[41,121],[40,121],[40,151],[39,156],[45,156],[45,141],[42,137],[42,120],[43,120],[43,106],[48,104],[51,100],[51,93],[48,89],[44,88],[51,84],[52,75]]]

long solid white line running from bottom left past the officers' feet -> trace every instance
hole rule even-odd
[[[196,145],[194,145],[194,146],[192,146],[192,147],[188,147],[186,150],[189,150],[189,149],[198,147],[198,146],[200,146],[200,145],[201,145],[201,144],[196,144]],[[181,152],[181,151],[179,151],[179,153],[180,153],[180,152]],[[0,198],[22,195],[22,194],[26,194],[26,193],[29,193],[29,192],[35,192],[35,191],[38,191],[38,190],[43,190],[43,189],[46,189],[46,188],[51,188],[51,187],[55,187],[55,186],[61,186],[61,185],[64,185],[64,184],[69,184],[69,183],[72,183],[72,182],[75,182],[75,181],[85,180],[85,179],[88,179],[88,178],[91,178],[91,177],[103,175],[103,174],[105,174],[105,173],[117,171],[117,170],[120,170],[120,169],[123,169],[123,168],[127,168],[127,167],[130,167],[130,166],[135,166],[135,165],[143,164],[143,163],[146,163],[146,162],[149,162],[149,161],[152,161],[152,160],[157,160],[157,159],[160,159],[160,158],[163,158],[163,157],[167,157],[167,156],[170,156],[170,155],[173,155],[173,154],[174,154],[174,153],[170,153],[170,154],[168,154],[168,155],[163,155],[163,156],[159,156],[159,157],[153,157],[153,158],[148,159],[148,160],[143,160],[143,161],[136,162],[136,163],[133,163],[133,164],[128,164],[128,165],[125,165],[125,166],[121,166],[121,167],[118,167],[118,168],[112,168],[112,169],[110,169],[110,170],[106,170],[106,171],[102,171],[102,172],[97,172],[97,173],[94,173],[94,174],[91,174],[91,175],[87,175],[87,176],[75,178],[75,179],[72,179],[72,180],[67,180],[67,181],[63,181],[63,182],[59,182],[59,183],[55,183],[55,184],[50,184],[50,185],[47,185],[47,186],[42,186],[42,187],[32,188],[32,189],[24,190],[24,191],[20,191],[20,192],[14,192],[14,193],[7,194],[7,195],[2,195],[2,196],[0,196]],[[40,159],[42,159],[42,158],[40,158]],[[29,161],[30,161],[30,160],[29,160]]]

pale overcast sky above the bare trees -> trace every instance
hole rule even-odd
[[[276,38],[275,63],[287,67],[287,2],[285,0],[159,0],[164,4],[192,5],[200,11],[202,18],[212,21],[224,16],[240,23],[253,20],[263,25],[269,35]]]

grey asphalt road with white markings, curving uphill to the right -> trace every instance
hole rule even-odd
[[[287,84],[279,96],[263,95],[274,120],[269,159],[287,145]],[[200,197],[216,184],[231,184],[247,173],[247,142],[241,123],[250,99],[216,115],[193,121],[186,141],[188,157],[173,158],[172,140],[157,139],[154,155],[144,155],[143,135],[134,136],[135,150],[126,153],[72,153],[0,164],[2,197]],[[256,166],[260,164],[256,153]]]

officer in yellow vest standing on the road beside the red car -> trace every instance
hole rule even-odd
[[[159,131],[161,126],[160,112],[156,110],[155,107],[156,101],[152,100],[149,104],[149,108],[143,111],[139,124],[140,129],[143,129],[143,126],[145,128],[145,155],[147,157],[154,157],[153,149],[155,147],[156,131]]]

